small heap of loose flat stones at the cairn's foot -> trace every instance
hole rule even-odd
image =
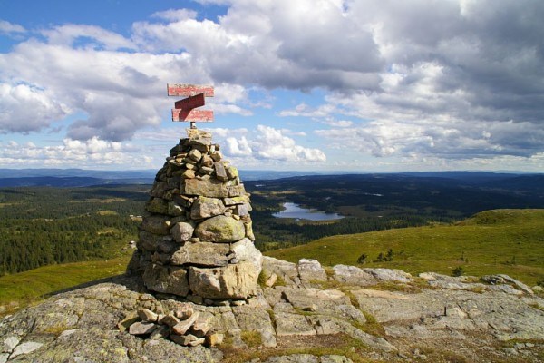
[[[180,305],[168,314],[138,309],[121,320],[118,328],[135,336],[170,339],[185,347],[201,344],[211,347],[221,344],[224,338],[223,334],[211,333],[209,319],[200,318],[199,311],[190,305]]]

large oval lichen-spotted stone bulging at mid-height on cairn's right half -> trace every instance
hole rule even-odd
[[[200,240],[228,243],[241,240],[246,236],[244,223],[234,218],[219,215],[200,223],[195,229]]]

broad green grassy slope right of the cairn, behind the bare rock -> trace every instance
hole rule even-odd
[[[393,250],[393,260],[375,261]],[[358,264],[363,253],[367,263]],[[506,273],[529,285],[544,280],[544,210],[483,211],[455,225],[435,225],[328,237],[306,245],[266,253],[296,262],[319,260],[325,266],[401,269],[417,274]]]

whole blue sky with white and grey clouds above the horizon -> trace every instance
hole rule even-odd
[[[158,169],[213,84],[240,169],[544,171],[544,3],[0,0],[0,167]]]

